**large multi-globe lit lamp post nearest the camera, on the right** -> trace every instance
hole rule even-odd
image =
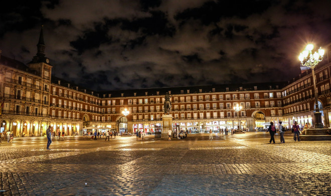
[[[323,128],[322,124],[322,114],[319,112],[318,108],[318,97],[317,97],[317,91],[316,91],[316,77],[315,77],[315,71],[314,68],[316,65],[323,60],[324,50],[319,48],[318,53],[315,51],[314,54],[312,54],[311,50],[314,48],[314,45],[308,44],[306,48],[300,53],[299,60],[301,61],[302,66],[309,67],[311,69],[312,73],[312,80],[314,84],[314,96],[315,96],[315,108],[316,111],[314,113],[315,116],[315,128]]]

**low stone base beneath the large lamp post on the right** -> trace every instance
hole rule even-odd
[[[301,141],[323,141],[331,140],[331,129],[306,129],[302,131],[302,135],[299,136]]]

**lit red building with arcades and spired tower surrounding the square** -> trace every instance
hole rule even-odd
[[[330,126],[330,45],[315,69],[322,122]],[[153,133],[162,126],[163,101],[169,93],[173,123],[194,131],[219,128],[264,128],[271,121],[291,126],[314,123],[314,92],[310,70],[289,82],[207,85],[159,89],[94,92],[52,77],[45,56],[43,30],[37,55],[27,65],[0,56],[2,130],[15,136],[45,135],[51,125],[66,135],[82,134],[85,127],[118,132]],[[242,106],[236,112],[233,107]],[[124,116],[122,111],[129,110]],[[239,121],[238,121],[239,119]]]

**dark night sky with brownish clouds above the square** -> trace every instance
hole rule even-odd
[[[9,5],[8,5],[9,4]],[[2,55],[28,63],[44,25],[53,74],[93,90],[286,81],[331,42],[331,1],[6,1]]]

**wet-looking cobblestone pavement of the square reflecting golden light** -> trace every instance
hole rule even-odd
[[[331,195],[331,141],[268,133],[0,143],[0,195]]]

